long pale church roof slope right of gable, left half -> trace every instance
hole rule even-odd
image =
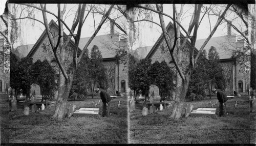
[[[81,38],[78,45],[79,48],[83,49],[90,38],[91,37]],[[116,55],[116,52],[113,50],[113,48],[118,48],[117,46],[119,46],[119,36],[112,34],[95,36],[95,38],[88,46],[89,55],[94,45],[99,47],[102,59],[113,58]]]

